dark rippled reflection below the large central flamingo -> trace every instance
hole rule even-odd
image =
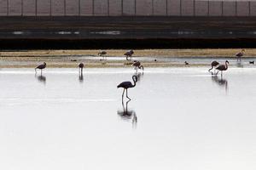
[[[122,101],[123,110],[118,110],[117,114],[121,117],[122,120],[131,122],[132,127],[136,128],[137,127],[137,115],[136,115],[135,111],[128,109],[128,103],[130,101],[131,100],[128,100],[125,105],[124,105],[124,101]]]

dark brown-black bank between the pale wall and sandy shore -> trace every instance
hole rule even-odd
[[[255,48],[256,17],[0,17],[0,48]]]

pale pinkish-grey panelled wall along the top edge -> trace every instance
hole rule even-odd
[[[0,16],[256,16],[256,0],[0,0]]]

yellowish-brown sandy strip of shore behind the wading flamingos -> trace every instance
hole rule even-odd
[[[144,60],[145,67],[168,67],[168,66],[188,66],[181,63],[164,62],[158,58],[209,58],[214,59],[234,57],[241,49],[143,49],[135,50],[134,57],[152,58]],[[86,67],[130,67],[131,61],[125,59],[124,53],[127,49],[106,49],[108,52],[107,60],[99,58],[99,50],[31,50],[31,51],[1,51],[0,67],[1,68],[20,68],[35,67],[45,61],[48,67],[77,67],[78,63],[83,62]],[[256,48],[246,49],[243,58],[256,56]],[[108,59],[108,57],[117,59]],[[89,59],[90,58],[90,59]],[[94,59],[95,58],[95,59]],[[154,61],[156,59],[156,61]],[[206,64],[191,64],[190,66],[204,66]]]

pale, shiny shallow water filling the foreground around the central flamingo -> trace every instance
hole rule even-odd
[[[133,74],[2,69],[0,169],[256,168],[256,69],[147,68],[126,110]]]

